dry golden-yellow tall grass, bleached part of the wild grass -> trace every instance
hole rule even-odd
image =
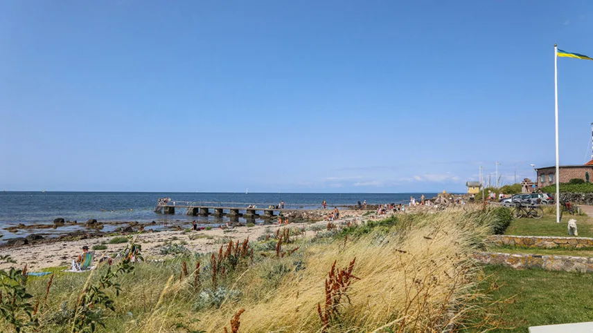
[[[357,258],[353,274],[360,280],[351,284],[339,305],[341,315],[328,332],[371,332],[392,322],[402,332],[440,332],[461,318],[459,305],[472,297],[472,240],[486,234],[487,226],[477,226],[459,212],[423,220],[423,227],[405,237],[371,234],[346,247],[342,242],[310,245],[303,249],[306,269],[288,274],[269,298],[250,297],[253,291],[246,285],[238,303],[201,314],[204,328],[222,330],[241,307],[247,309],[241,317],[244,332],[317,332],[322,326],[317,303],[325,300],[328,270],[336,260],[343,267]],[[245,278],[257,283],[254,276]]]

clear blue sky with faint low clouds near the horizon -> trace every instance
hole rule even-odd
[[[593,1],[2,1],[0,189],[464,191],[555,163]],[[558,59],[560,164],[593,61]]]

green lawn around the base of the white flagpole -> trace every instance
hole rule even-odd
[[[593,218],[588,216],[570,216],[576,219],[578,236],[593,237]],[[560,223],[556,223],[556,216],[546,214],[543,218],[519,218],[508,226],[505,235],[517,236],[568,236],[567,223],[569,217],[563,216]]]

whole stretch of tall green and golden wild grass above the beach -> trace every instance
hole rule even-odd
[[[372,230],[360,225],[364,232],[346,237],[339,229],[314,238],[281,231],[277,240],[254,246],[249,256],[249,244],[241,245],[245,253],[237,250],[237,256],[240,243],[225,244],[233,254],[222,262],[217,256],[215,264],[210,254],[136,263],[134,276],[116,280],[123,290],[113,296],[116,311],[103,314],[107,327],[98,331],[224,332],[226,326],[233,332],[441,332],[462,327],[475,307],[480,276],[472,251],[495,220],[495,213],[479,211],[409,214],[371,224]],[[324,309],[333,265],[351,267],[355,278],[344,289],[333,280],[337,294],[332,295],[340,297],[332,296],[339,301],[330,302],[332,315],[323,323],[318,304]],[[88,277],[56,272],[46,301],[47,278],[30,278],[28,290],[45,304],[40,332],[67,332],[62,304],[76,302]]]

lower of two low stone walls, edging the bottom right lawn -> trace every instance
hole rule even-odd
[[[481,263],[505,265],[515,269],[542,268],[549,271],[593,273],[593,258],[497,252],[478,252],[474,257]]]

